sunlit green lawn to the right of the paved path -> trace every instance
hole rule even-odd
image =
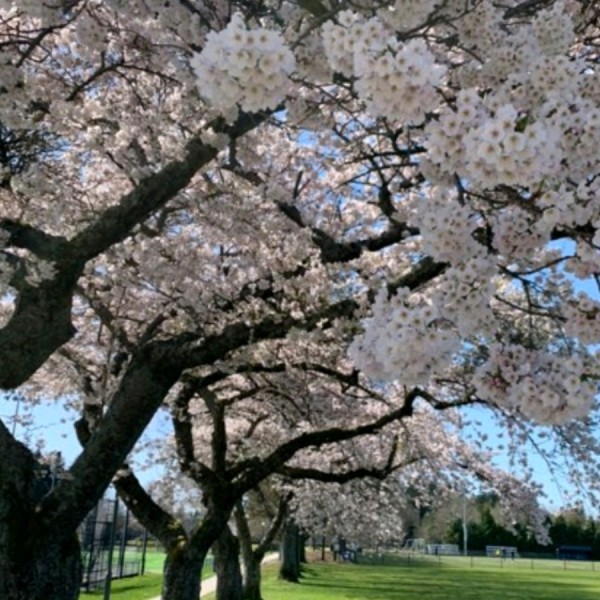
[[[264,569],[265,600],[597,600],[600,573],[463,566],[309,564],[299,584]],[[208,596],[207,598],[211,598]],[[214,598],[214,596],[212,596]]]

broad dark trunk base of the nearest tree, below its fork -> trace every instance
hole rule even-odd
[[[77,538],[59,544],[40,537],[32,551],[23,538],[21,544],[21,549],[0,547],[0,598],[77,600],[82,578]]]

